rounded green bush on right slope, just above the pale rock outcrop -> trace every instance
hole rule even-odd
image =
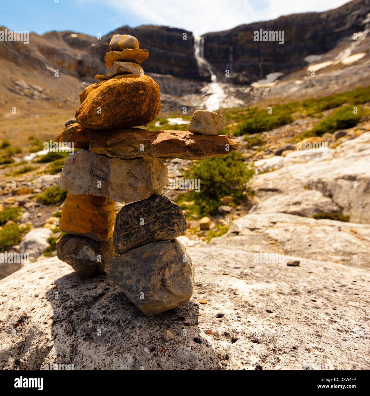
[[[351,128],[357,125],[361,120],[361,109],[358,109],[358,111],[358,114],[354,114],[353,106],[340,107],[330,114],[330,116],[316,124],[313,131],[316,136],[322,136],[324,133],[333,133],[338,131],[338,129]]]

